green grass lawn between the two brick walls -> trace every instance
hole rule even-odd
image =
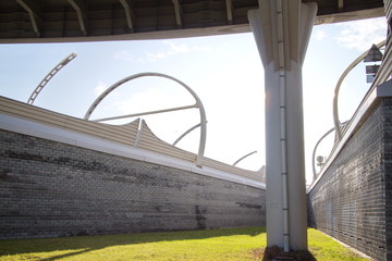
[[[366,260],[309,228],[303,260]],[[0,260],[262,260],[266,228],[0,240]]]

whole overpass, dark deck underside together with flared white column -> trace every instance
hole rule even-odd
[[[284,251],[306,250],[302,63],[311,27],[383,16],[383,7],[382,0],[1,1],[0,44],[233,34],[250,32],[250,20],[269,97],[268,246],[283,247]]]

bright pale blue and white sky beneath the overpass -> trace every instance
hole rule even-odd
[[[384,17],[317,25],[303,66],[305,162],[311,182],[311,153],[317,140],[333,127],[332,98],[342,72],[359,54],[385,38]],[[265,164],[264,67],[252,33],[195,38],[78,44],[0,45],[0,95],[26,102],[41,79],[70,53],[77,58],[44,88],[35,105],[83,117],[94,100],[118,80],[145,72],[168,74],[189,86],[207,114],[205,156],[259,170]],[[339,98],[340,120],[348,120],[370,87],[364,64],[347,76]],[[91,120],[194,104],[179,84],[143,77],[112,91]],[[151,130],[172,144],[199,123],[197,109],[143,116]],[[134,119],[110,122],[123,124]],[[333,136],[317,154],[327,157]],[[197,152],[199,130],[176,146]]]

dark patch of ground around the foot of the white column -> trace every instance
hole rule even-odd
[[[279,248],[277,246],[257,249],[255,250],[254,256],[257,260],[262,261],[316,261],[316,258],[309,251],[284,252],[282,248]]]

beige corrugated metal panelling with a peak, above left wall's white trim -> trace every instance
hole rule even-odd
[[[117,126],[102,123],[90,122],[76,119],[38,107],[29,105],[20,101],[0,97],[0,113],[25,119],[33,122],[60,127],[71,132],[77,132],[120,144],[135,146],[139,120],[130,124]],[[154,151],[160,154],[181,159],[191,163],[196,161],[196,154],[189,151],[179,149],[161,139],[159,139],[148,127],[145,121],[142,121],[142,134],[138,147],[145,150]],[[264,172],[253,172],[243,170],[233,165],[225,164],[212,159],[204,158],[203,164],[225,173],[235,174],[254,181],[265,183]]]

